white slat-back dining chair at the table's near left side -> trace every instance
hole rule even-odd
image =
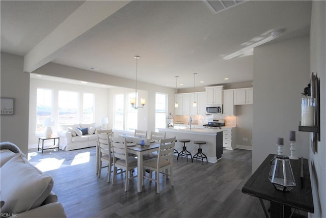
[[[128,156],[127,143],[125,138],[111,137],[111,146],[113,152],[112,185],[114,184],[114,179],[117,175],[118,168],[123,169],[124,170],[123,172],[125,172],[124,191],[127,192],[129,180],[137,177],[137,176],[133,176],[131,172],[134,168],[137,168],[137,159],[132,156]]]

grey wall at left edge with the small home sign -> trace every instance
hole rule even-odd
[[[28,153],[30,74],[23,58],[1,53],[1,97],[14,98],[14,115],[1,115],[1,142],[10,141]]]

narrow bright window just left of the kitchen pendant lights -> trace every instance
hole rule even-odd
[[[167,125],[167,99],[168,94],[156,93],[155,94],[155,127],[165,128]]]

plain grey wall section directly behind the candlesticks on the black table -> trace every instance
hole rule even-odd
[[[277,153],[278,137],[284,138],[283,153],[290,154],[290,130],[296,131],[297,156],[309,157],[309,133],[297,131],[308,72],[309,37],[254,49],[252,172],[269,153]]]

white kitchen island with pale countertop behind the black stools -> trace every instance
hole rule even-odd
[[[186,143],[187,150],[194,156],[198,152],[198,145],[194,141],[205,141],[202,145],[202,151],[207,156],[208,162],[215,163],[222,158],[223,153],[223,133],[222,129],[205,128],[158,128],[159,132],[166,132],[166,138],[176,137],[177,140],[188,139],[191,142]],[[182,151],[183,143],[177,142],[175,149]]]

